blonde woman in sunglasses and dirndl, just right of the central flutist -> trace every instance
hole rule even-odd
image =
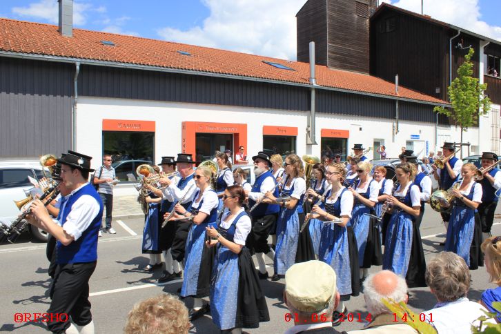
[[[380,248],[379,253],[381,253],[380,244],[374,245],[372,239],[369,239],[368,242],[371,217],[367,214],[373,212],[380,190],[377,181],[369,176],[371,169],[372,166],[369,161],[359,162],[355,169],[358,179],[348,188],[355,197],[349,224],[357,238],[358,264],[360,266],[360,279],[362,280],[369,275],[369,268],[373,264],[373,252],[377,252],[377,248]]]

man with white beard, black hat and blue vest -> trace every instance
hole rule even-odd
[[[268,191],[278,197],[278,188],[277,181],[270,172],[270,157],[261,151],[253,157],[253,161],[256,180],[253,188],[246,191],[249,207],[252,208],[250,212],[252,230],[247,237],[246,246],[256,255],[257,264],[259,265],[259,278],[266,279],[268,278],[268,272],[264,264],[263,254],[266,254],[272,260],[275,258],[275,251],[268,246],[268,237],[275,230],[277,213],[280,207],[276,204],[265,204],[261,201]]]

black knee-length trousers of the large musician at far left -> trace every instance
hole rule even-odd
[[[64,333],[71,321],[85,326],[92,321],[89,302],[89,279],[97,262],[58,264],[54,282],[50,288],[50,307],[47,313],[66,313],[68,320],[47,322],[52,333]],[[59,320],[65,320],[61,317]]]

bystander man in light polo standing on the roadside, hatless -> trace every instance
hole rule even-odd
[[[113,210],[113,181],[117,178],[115,175],[115,168],[111,166],[111,155],[103,156],[103,166],[96,170],[94,173],[94,184],[97,184],[97,192],[103,201],[106,208],[106,228],[104,232],[116,234],[117,232],[111,227],[112,210]],[[102,226],[101,226],[102,227]],[[99,237],[101,237],[101,230],[99,230]]]

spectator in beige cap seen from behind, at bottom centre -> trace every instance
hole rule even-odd
[[[340,294],[337,292],[336,274],[328,264],[308,261],[288,268],[284,302],[291,313],[290,319],[294,320],[294,327],[289,328],[286,334],[341,333],[331,323]]]

